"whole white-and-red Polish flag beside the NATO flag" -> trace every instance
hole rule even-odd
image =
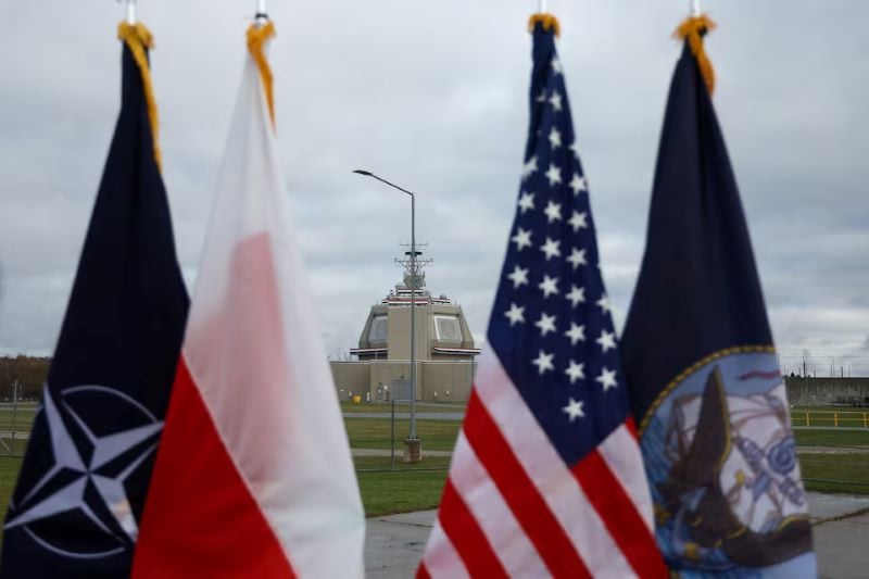
[[[362,502],[289,216],[266,73],[249,55],[134,577],[363,575]]]

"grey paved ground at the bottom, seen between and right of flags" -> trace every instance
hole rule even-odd
[[[869,498],[808,494],[821,579],[869,576]],[[368,519],[366,577],[413,577],[436,516],[437,511],[419,511]]]

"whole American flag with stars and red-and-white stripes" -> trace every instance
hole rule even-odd
[[[552,16],[488,343],[418,577],[666,577]]]

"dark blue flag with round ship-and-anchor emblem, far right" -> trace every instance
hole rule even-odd
[[[681,577],[815,577],[784,385],[707,89],[709,23],[695,21],[621,341],[658,546]]]

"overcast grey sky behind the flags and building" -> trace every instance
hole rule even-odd
[[[552,0],[620,327],[645,238],[687,0]],[[715,102],[788,372],[869,375],[869,3],[705,0]],[[406,197],[429,289],[484,335],[517,196],[537,2],[278,2],[279,150],[327,353],[399,280]],[[253,0],[141,0],[164,178],[196,278]],[[0,354],[49,354],[118,110],[123,7],[7,2],[0,21]],[[833,356],[835,362],[833,362]]]

